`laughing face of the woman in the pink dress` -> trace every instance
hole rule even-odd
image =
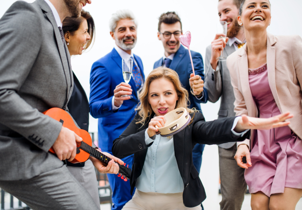
[[[247,31],[266,30],[271,21],[270,3],[268,0],[246,0],[238,22]]]

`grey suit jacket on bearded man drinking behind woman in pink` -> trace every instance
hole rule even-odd
[[[231,84],[231,77],[226,61],[222,63],[222,69],[217,66],[214,71],[211,64],[211,45],[206,48],[205,52],[205,67],[204,67],[204,87],[208,91],[208,100],[210,102],[216,102],[221,97],[220,109],[218,112],[219,118],[234,117],[234,102],[235,95]],[[223,56],[229,56],[235,52],[235,47],[230,47],[229,43],[226,44],[223,50]],[[218,147],[229,149],[235,145],[234,142],[224,143],[218,145]]]

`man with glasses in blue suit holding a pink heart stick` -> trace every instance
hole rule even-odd
[[[195,75],[193,75],[189,52],[179,41],[182,24],[175,12],[168,12],[159,18],[158,38],[163,42],[164,57],[155,62],[154,68],[165,66],[175,70],[179,79],[189,92],[190,108],[201,111],[200,103],[206,103],[208,94],[203,88],[203,61],[200,53],[191,51]],[[193,149],[193,164],[200,171],[204,145],[196,144]]]

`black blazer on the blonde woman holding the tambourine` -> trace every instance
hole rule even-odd
[[[250,133],[247,132],[246,135],[238,138],[231,132],[235,117],[204,122],[202,113],[192,113],[190,115],[193,118],[191,124],[173,136],[176,162],[184,182],[183,202],[186,207],[200,205],[206,197],[198,176],[199,174],[192,161],[192,150],[195,144],[211,145],[243,141],[249,137]],[[150,116],[154,116],[154,113]],[[138,119],[139,116],[137,114],[122,135],[114,140],[112,147],[113,155],[118,158],[134,154],[130,178],[131,193],[133,192],[137,178],[141,174],[147,149],[153,144],[146,145],[144,139],[144,133],[148,128],[150,118],[142,127],[141,124],[135,124]]]

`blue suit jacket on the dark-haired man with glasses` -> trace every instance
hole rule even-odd
[[[203,73],[203,60],[200,53],[191,51],[194,71],[195,74],[201,76],[201,79],[204,80],[204,73]],[[154,68],[160,67],[163,65],[163,58],[155,62]],[[175,70],[178,73],[180,82],[188,90],[189,92],[189,99],[190,99],[190,108],[196,108],[197,110],[201,111],[199,103],[206,103],[208,100],[208,93],[205,88],[203,88],[203,98],[198,100],[195,96],[192,95],[190,92],[190,74],[193,73],[191,59],[189,55],[189,51],[185,49],[182,45],[175,53],[174,58],[170,64],[170,68]]]

